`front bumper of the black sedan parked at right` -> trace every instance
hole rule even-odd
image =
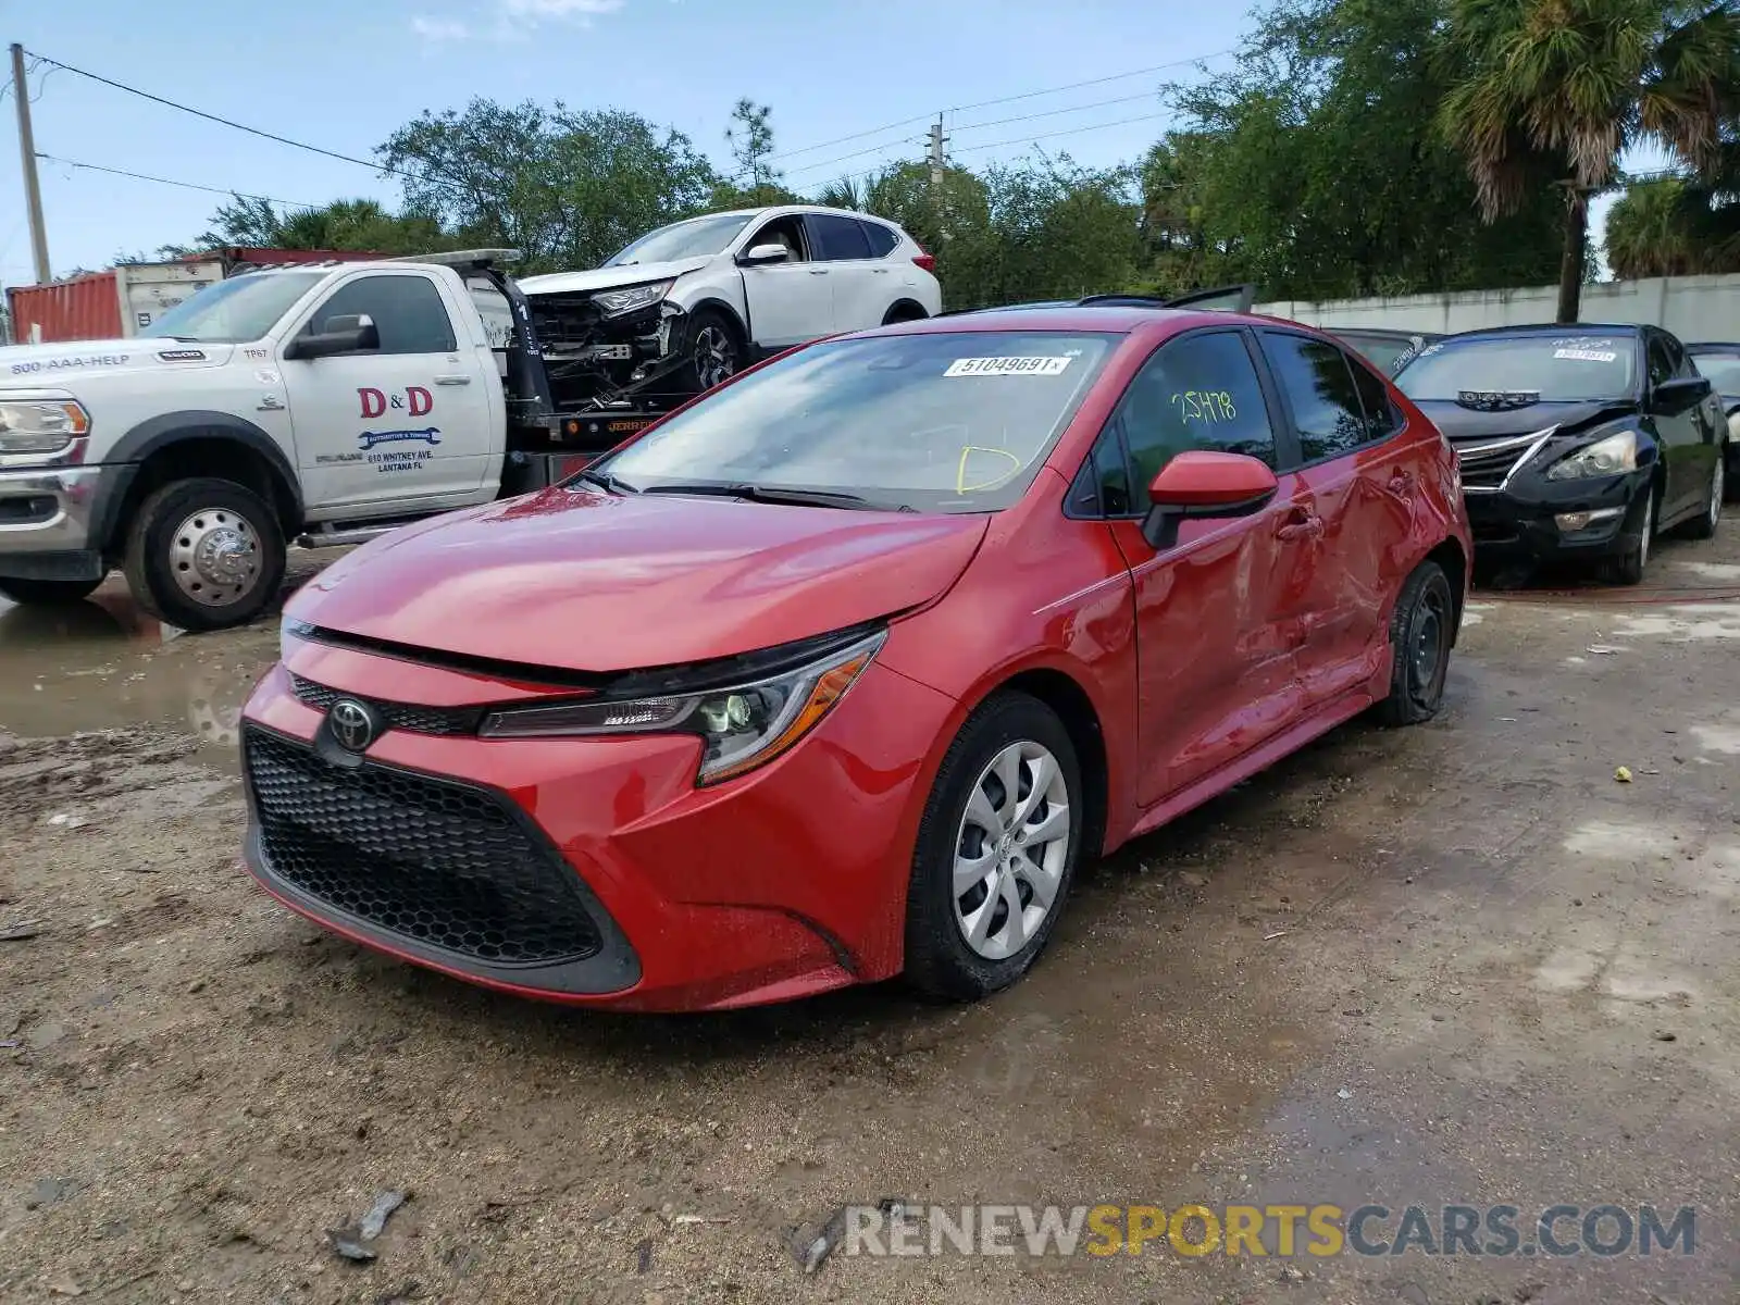
[[[1653,468],[1597,480],[1517,477],[1498,492],[1469,489],[1469,525],[1476,557],[1519,562],[1575,562],[1630,550],[1643,529],[1644,494]],[[1582,529],[1563,529],[1559,517],[1590,513]]]

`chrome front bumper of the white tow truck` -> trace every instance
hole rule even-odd
[[[0,470],[0,578],[101,579],[101,517],[130,466]]]

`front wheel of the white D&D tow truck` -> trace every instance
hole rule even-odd
[[[183,630],[245,625],[284,581],[284,532],[258,494],[233,480],[174,480],[127,532],[127,586]]]

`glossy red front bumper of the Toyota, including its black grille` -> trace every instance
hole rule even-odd
[[[484,987],[640,1011],[900,969],[919,774],[952,708],[931,689],[872,663],[799,746],[717,788],[694,786],[687,736],[398,727],[331,767],[313,743],[334,691],[437,710],[513,696],[313,644],[261,680],[244,712],[247,865],[334,933]]]

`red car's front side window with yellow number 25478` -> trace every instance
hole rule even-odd
[[[1129,383],[1114,419],[1129,445],[1133,512],[1147,512],[1148,482],[1190,449],[1242,452],[1275,466],[1263,388],[1237,331],[1162,345]]]

